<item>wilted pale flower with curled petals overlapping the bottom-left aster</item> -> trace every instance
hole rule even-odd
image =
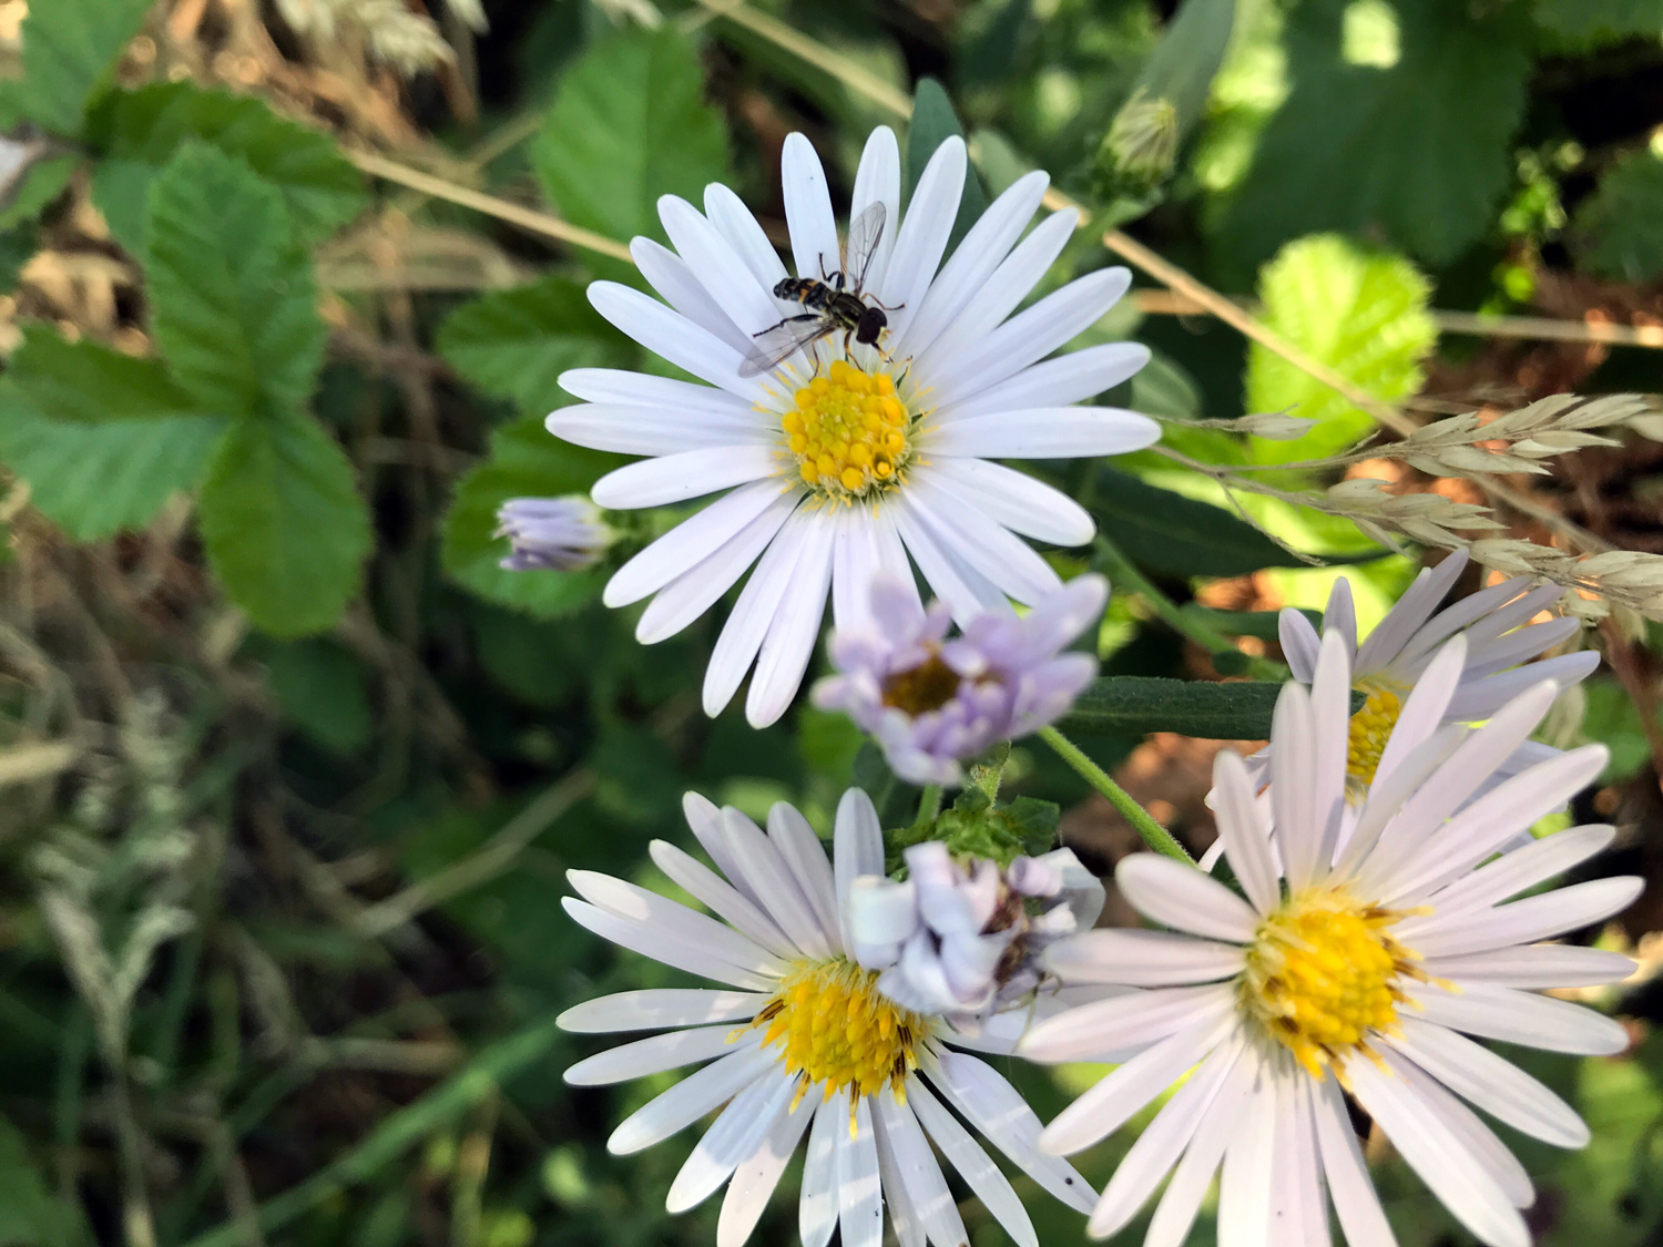
[[[1016,858],[1003,871],[986,858],[955,861],[940,840],[905,858],[905,883],[866,875],[850,888],[855,959],[881,971],[878,991],[891,1001],[941,1014],[961,1034],[1031,1003],[1041,953],[1103,913],[1103,885],[1073,850]]]

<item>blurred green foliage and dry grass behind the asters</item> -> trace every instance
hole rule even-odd
[[[908,795],[841,718],[705,720],[720,610],[645,648],[607,569],[497,565],[501,502],[617,462],[544,432],[557,374],[669,367],[584,299],[637,281],[620,243],[659,234],[659,195],[727,181],[778,239],[788,131],[841,191],[873,125],[913,171],[963,131],[966,214],[1028,168],[1084,206],[1053,284],[1124,228],[1427,419],[1663,391],[1658,0],[0,0],[0,1247],[713,1242],[713,1202],[662,1212],[690,1139],[604,1147],[669,1076],[560,1082],[589,1051],[562,1008],[672,978],[565,921],[562,871],[665,886],[645,846],[685,838],[687,788],[822,830],[856,773]],[[1322,484],[1305,464],[1374,432],[1164,289],[1083,343],[1124,336],[1154,362],[1103,401],[1197,459]],[[1289,407],[1317,431],[1227,427]],[[1068,471],[1104,540],[1053,557],[1116,580],[1108,672],[1277,675],[1269,612],[1320,605],[1332,565],[1152,452]],[[1651,441],[1518,487],[1663,552]],[[1252,517],[1349,562],[1365,627],[1414,572],[1345,520]],[[674,519],[627,517],[615,557]],[[1635,1046],[1522,1057],[1593,1146],[1510,1142],[1542,1244],[1638,1245],[1663,1240],[1660,637],[1613,615],[1588,643],[1608,663],[1548,733],[1611,747],[1575,813],[1620,825],[1595,870],[1651,881],[1580,936],[1640,958],[1596,998]],[[1096,728],[1204,846],[1219,742]],[[1131,850],[1049,755],[1008,775],[1098,871]],[[1098,1071],[1014,1074],[1049,1117]],[[1465,1242],[1372,1156],[1405,1244]],[[1048,1247],[1083,1240],[1023,1194]],[[757,1240],[793,1237],[782,1192]]]

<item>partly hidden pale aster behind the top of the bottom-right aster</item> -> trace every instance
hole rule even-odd
[[[1467,640],[1467,660],[1443,708],[1445,727],[1483,722],[1542,680],[1557,682],[1560,690],[1570,688],[1600,665],[1600,655],[1591,650],[1537,657],[1570,640],[1582,627],[1575,619],[1530,624],[1532,617],[1565,595],[1562,585],[1532,589],[1533,577],[1520,575],[1438,610],[1465,567],[1467,552],[1455,550],[1437,567],[1422,569],[1415,584],[1360,647],[1350,582],[1345,577],[1334,582],[1334,594],[1322,615],[1322,632],[1339,632],[1345,638],[1352,655],[1352,687],[1369,698],[1352,715],[1347,728],[1345,776],[1354,801],[1374,783],[1385,742],[1410,690],[1450,637]],[[1282,652],[1294,678],[1309,685],[1322,645],[1317,630],[1300,612],[1284,610],[1281,632]],[[1550,745],[1522,742],[1518,752],[1497,768],[1497,776],[1515,775],[1557,755],[1558,750]],[[1262,758],[1264,755],[1256,760],[1261,768]]]

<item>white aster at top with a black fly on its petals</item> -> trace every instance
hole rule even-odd
[[[818,281],[838,269],[840,243],[820,158],[802,135],[787,138],[780,175],[797,274]],[[936,150],[903,218],[895,135],[871,133],[851,218],[883,206],[861,286],[868,306],[886,309],[881,351],[836,333],[742,376],[757,334],[805,309],[775,298],[785,264],[722,185],[705,190],[703,213],[660,200],[674,251],[645,238],[630,244],[664,303],[610,281],[589,288],[602,316],[707,382],[575,369],[560,386],[584,404],[549,416],[549,431],[647,456],[595,484],[602,507],[730,490],[619,569],[604,594],[614,607],[652,597],[635,630],[652,643],[703,615],[757,564],[705,672],[708,713],[755,665],[745,713],[757,727],[777,720],[802,683],[827,594],[838,627],[861,624],[875,574],[911,582],[908,555],[961,624],[1009,610],[1009,599],[1039,600],[1059,580],[1018,534],[1081,545],[1093,522],[1079,504],[993,461],[1121,454],[1157,441],[1144,416],[1073,406],[1131,377],[1146,347],[1111,343],[1046,359],[1126,293],[1124,268],[1016,311],[1074,231],[1066,209],[1023,238],[1046,185],[1043,173],[1019,178],[943,264],[965,143]]]

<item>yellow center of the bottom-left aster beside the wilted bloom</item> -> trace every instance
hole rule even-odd
[[[795,1107],[817,1082],[825,1097],[848,1089],[850,1129],[860,1096],[890,1086],[896,1101],[906,1101],[906,1074],[918,1067],[918,1046],[930,1033],[930,1021],[903,1009],[878,991],[878,976],[845,958],[802,961],[750,1026],[768,1029],[762,1046],[778,1044],[788,1074],[798,1077]]]

